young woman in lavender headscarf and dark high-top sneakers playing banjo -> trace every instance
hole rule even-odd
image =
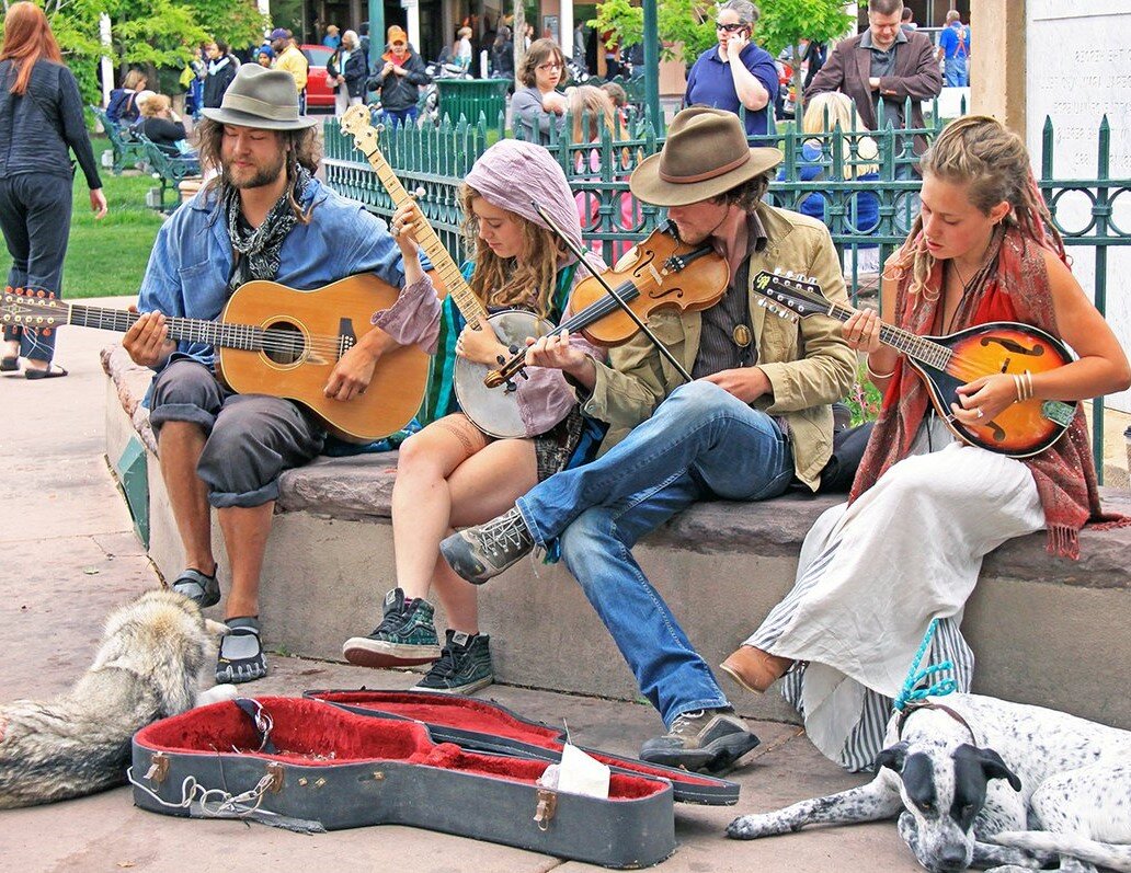
[[[518,179],[521,185],[515,184]],[[525,309],[560,323],[575,285],[604,265],[594,254],[578,262],[532,200],[581,247],[581,225],[561,166],[541,146],[504,139],[475,162],[461,189],[464,228],[475,252],[464,275],[489,310]],[[525,438],[493,439],[460,412],[451,387],[455,357],[495,364],[511,353],[491,331],[466,327],[452,295],[443,302],[437,297],[417,260],[414,225],[422,221],[415,205],[392,217],[406,287],[373,323],[402,344],[435,353],[425,401],[433,421],[400,448],[392,491],[397,580],[385,597],[385,616],[372,633],[347,640],[343,650],[349,662],[372,667],[434,662],[417,688],[469,694],[493,680],[489,638],[478,633],[475,587],[440,560],[440,541],[454,527],[492,518],[559,469],[589,460],[601,427],[581,416],[561,371],[543,368],[516,380]],[[580,334],[553,342],[604,357]],[[448,616],[442,649],[433,606],[425,599],[433,587]]]

